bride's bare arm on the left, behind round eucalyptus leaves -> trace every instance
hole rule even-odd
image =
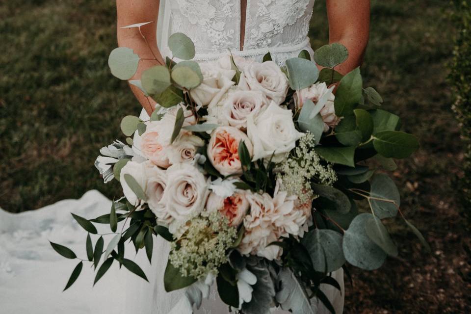
[[[140,79],[144,70],[163,64],[162,56],[157,48],[157,16],[159,0],[116,0],[116,9],[118,13],[118,46],[128,47],[134,50],[142,59],[139,61],[139,68],[131,79]],[[141,27],[142,34],[146,37],[149,46],[139,33],[138,28],[121,28],[136,23],[151,22]],[[157,60],[154,59],[157,57]],[[137,100],[150,114],[154,110],[155,102],[151,98],[146,98],[139,88],[131,85],[131,90]]]

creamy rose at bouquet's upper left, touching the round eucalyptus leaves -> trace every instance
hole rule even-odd
[[[234,85],[235,70],[222,69],[217,63],[200,64],[203,82],[191,90],[190,95],[201,106],[217,103],[227,90]]]

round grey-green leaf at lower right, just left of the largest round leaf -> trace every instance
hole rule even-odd
[[[329,273],[339,269],[345,263],[342,235],[338,232],[315,229],[304,236],[302,244],[308,250],[316,271]]]

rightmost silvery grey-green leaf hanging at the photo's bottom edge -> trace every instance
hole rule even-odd
[[[282,268],[278,280],[281,281],[281,289],[276,293],[276,301],[283,310],[293,314],[316,314],[305,289],[288,267]]]

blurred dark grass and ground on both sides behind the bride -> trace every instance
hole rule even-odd
[[[362,74],[420,138],[393,177],[432,254],[400,219],[389,222],[400,258],[352,267],[345,313],[471,313],[471,1],[371,2]],[[311,26],[314,49],[326,44],[323,0]],[[114,1],[0,1],[0,38],[0,208],[34,210],[89,189],[118,196],[93,166],[121,136],[121,118],[140,111],[107,67]]]

